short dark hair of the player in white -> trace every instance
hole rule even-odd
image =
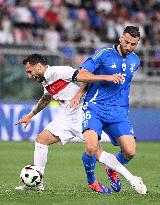
[[[36,65],[38,63],[41,63],[42,65],[48,65],[47,58],[38,53],[34,53],[24,58],[23,65],[26,65],[27,63],[31,65]]]

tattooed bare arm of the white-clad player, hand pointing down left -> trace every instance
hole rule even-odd
[[[28,126],[30,123],[32,117],[36,115],[38,112],[43,110],[51,101],[52,96],[49,94],[44,94],[41,99],[38,101],[37,105],[33,108],[33,110],[26,116],[22,117],[18,122],[15,123],[15,125],[19,125],[21,123],[24,123],[24,128]]]

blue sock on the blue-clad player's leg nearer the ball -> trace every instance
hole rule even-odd
[[[94,170],[96,166],[96,156],[89,156],[86,152],[82,155],[83,166],[87,175],[88,184],[92,184],[96,178],[94,176]]]

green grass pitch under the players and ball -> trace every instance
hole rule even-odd
[[[118,147],[102,144],[115,154]],[[142,176],[149,193],[139,195],[122,180],[122,190],[111,195],[92,193],[88,189],[81,155],[83,143],[68,143],[64,147],[52,145],[45,172],[45,191],[17,191],[19,173],[32,164],[33,142],[0,142],[0,205],[160,205],[160,142],[137,143],[137,155],[127,168]],[[96,176],[106,184],[107,176],[97,163]],[[109,183],[107,183],[109,185]]]

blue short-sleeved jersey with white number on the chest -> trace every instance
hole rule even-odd
[[[81,67],[95,75],[121,74],[123,81],[121,84],[106,81],[90,83],[85,97],[87,106],[104,114],[123,110],[126,112],[129,106],[130,83],[139,65],[140,60],[134,52],[122,56],[115,45],[98,49]]]

